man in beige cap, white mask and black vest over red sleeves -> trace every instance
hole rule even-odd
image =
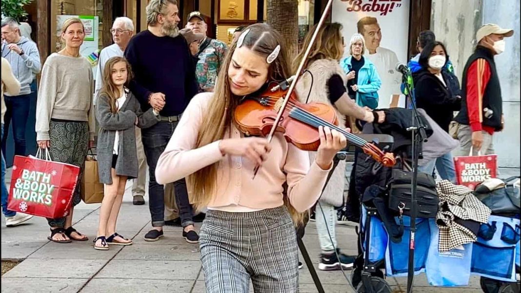
[[[478,45],[465,66],[462,77],[462,105],[454,120],[459,123],[456,156],[494,154],[492,135],[504,126],[501,87],[494,56],[505,50],[504,37],[514,34],[497,24],[485,24],[476,32]]]

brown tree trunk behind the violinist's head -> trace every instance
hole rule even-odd
[[[267,23],[286,40],[289,57],[293,60],[299,50],[298,1],[268,0],[267,12]]]

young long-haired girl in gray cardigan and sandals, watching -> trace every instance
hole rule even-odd
[[[96,103],[96,119],[100,123],[96,147],[98,173],[100,182],[105,185],[100,224],[94,239],[94,249],[98,250],[108,250],[109,244],[132,244],[132,240],[116,233],[116,220],[127,180],[138,176],[134,126],[148,128],[159,121],[159,112],[152,108],[143,112],[137,98],[125,87],[131,75],[125,58],[110,58]]]

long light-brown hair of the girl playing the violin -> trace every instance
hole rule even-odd
[[[277,45],[280,45],[278,57],[269,65],[267,82],[280,82],[291,75],[288,51],[279,32],[272,29],[268,24],[256,23],[247,27],[242,33],[246,33],[242,46],[263,57],[267,57]],[[220,67],[215,93],[210,100],[197,135],[197,148],[225,138],[226,130],[234,123],[233,112],[239,105],[240,97],[234,96],[230,91],[228,68],[236,48],[237,42],[233,42],[225,57],[224,65]],[[218,181],[217,167],[218,163],[214,163],[188,176],[187,181],[192,188],[193,199],[197,208],[207,206],[215,193]],[[295,211],[289,204],[286,195],[284,195],[284,205],[292,214],[295,223],[301,223],[303,214]]]

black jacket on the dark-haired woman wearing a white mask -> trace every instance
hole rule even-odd
[[[453,112],[461,108],[461,98],[456,97],[448,87],[449,74],[442,70],[441,75],[447,86],[425,68],[413,73],[416,107],[424,109],[432,120],[449,132]]]

